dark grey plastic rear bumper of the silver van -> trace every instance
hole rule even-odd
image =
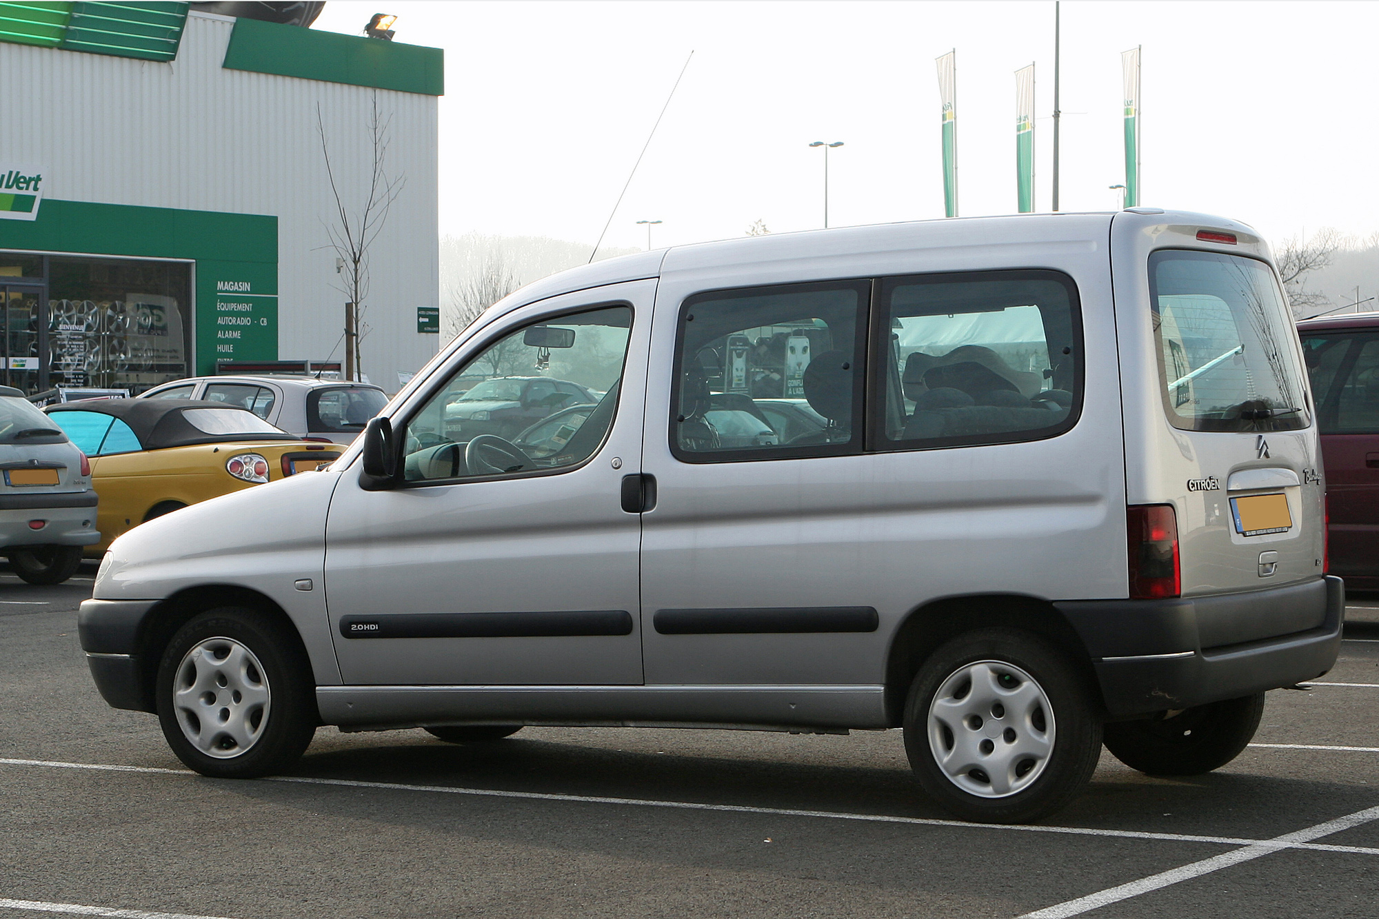
[[[1342,580],[1325,577],[1249,593],[1055,606],[1087,646],[1106,711],[1118,718],[1321,676],[1340,651],[1346,599]]]

